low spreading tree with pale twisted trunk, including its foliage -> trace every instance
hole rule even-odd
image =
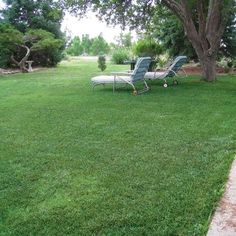
[[[0,63],[1,66],[10,66],[14,62],[23,72],[27,72],[26,61],[31,57],[35,62],[40,57],[49,65],[54,65],[64,42],[55,39],[52,33],[42,29],[29,30],[21,33],[11,25],[0,24]],[[51,57],[54,56],[54,58]]]

